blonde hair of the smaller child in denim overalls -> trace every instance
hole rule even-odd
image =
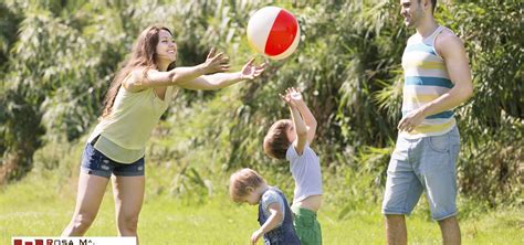
[[[248,188],[253,190],[265,183],[258,172],[252,169],[241,169],[229,178],[229,195],[233,202],[241,202],[249,194]]]

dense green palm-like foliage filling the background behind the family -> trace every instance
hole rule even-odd
[[[171,151],[210,148],[224,170],[271,162],[262,138],[274,120],[289,117],[277,94],[296,86],[319,121],[322,161],[382,180],[400,119],[400,56],[411,32],[392,0],[0,3],[1,168],[20,167],[11,177],[21,177],[45,141],[87,134],[118,63],[146,25],[174,30],[181,65],[202,62],[217,46],[238,67],[252,55],[244,34],[249,17],[268,4],[298,18],[297,52],[271,62],[256,82],[217,93],[184,92],[165,119],[169,131],[188,141],[177,140]],[[455,2],[437,12],[464,40],[475,84],[475,96],[457,109],[462,191],[515,198],[521,189],[510,187],[520,187],[524,131],[522,3]]]

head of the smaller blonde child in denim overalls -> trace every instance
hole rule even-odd
[[[259,203],[260,194],[256,189],[265,184],[265,180],[252,169],[241,169],[229,179],[229,195],[233,202],[247,202],[251,205]]]

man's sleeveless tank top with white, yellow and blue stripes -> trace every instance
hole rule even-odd
[[[411,36],[402,55],[405,73],[402,116],[437,99],[453,87],[444,61],[434,49],[434,40],[443,30],[438,26],[428,38]],[[455,126],[452,110],[427,116],[412,131],[400,132],[402,137],[420,138],[439,136]]]

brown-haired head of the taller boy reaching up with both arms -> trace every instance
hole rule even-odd
[[[264,138],[264,152],[272,158],[285,159],[287,148],[296,139],[293,121],[281,119],[275,121]]]

